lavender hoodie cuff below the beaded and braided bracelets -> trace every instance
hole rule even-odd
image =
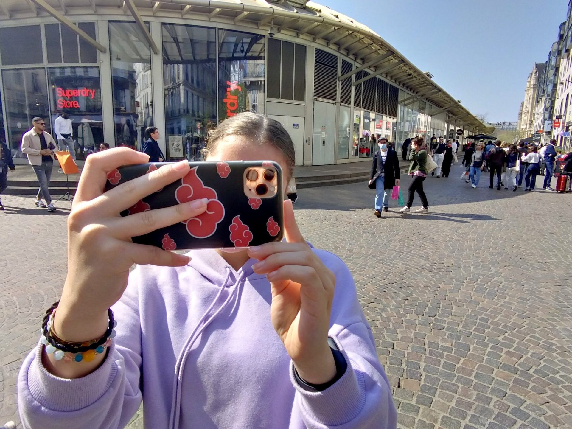
[[[43,344],[39,343],[27,370],[26,382],[31,396],[52,411],[69,412],[90,406],[105,394],[117,375],[114,343],[97,370],[76,379],[59,378],[47,371],[42,363],[42,353]]]

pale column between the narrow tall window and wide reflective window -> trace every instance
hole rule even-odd
[[[150,22],[151,37],[155,41],[159,52],[153,53],[151,50],[151,80],[153,92],[153,124],[159,129],[160,138],[157,141],[159,147],[167,155],[167,135],[165,133],[165,97],[163,88],[163,43],[161,34],[161,23]],[[146,139],[146,137],[145,137]]]

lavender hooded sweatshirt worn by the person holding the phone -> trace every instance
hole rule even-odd
[[[236,272],[215,251],[192,251],[186,267],[134,269],[113,307],[116,340],[92,374],[58,378],[43,367],[41,344],[30,352],[18,377],[23,427],[122,428],[145,397],[152,429],[395,428],[351,273],[332,253],[315,252],[336,275],[329,336],[348,364],[326,390],[309,392],[293,377],[255,261]]]

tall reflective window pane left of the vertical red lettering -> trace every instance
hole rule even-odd
[[[163,80],[168,160],[201,160],[216,126],[216,30],[163,25]]]

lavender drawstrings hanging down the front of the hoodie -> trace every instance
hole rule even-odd
[[[239,277],[236,280],[236,283],[229,291],[228,297],[224,301],[223,305],[221,305],[212,316],[206,319],[210,314],[210,312],[212,311],[212,309],[215,307],[216,303],[219,301],[220,296],[223,294],[224,289],[227,287],[227,284],[231,279],[231,269],[229,267],[226,268],[227,268],[227,276],[224,279],[223,285],[221,286],[219,293],[217,293],[215,300],[213,300],[212,304],[209,305],[209,308],[206,309],[201,319],[198,320],[196,326],[193,328],[193,331],[190,333],[189,338],[186,340],[186,343],[182,348],[181,354],[177,359],[177,363],[175,365],[175,379],[173,383],[173,398],[172,398],[171,414],[169,418],[169,428],[176,429],[179,423],[180,412],[181,412],[182,371],[185,367],[186,359],[189,355],[190,349],[193,347],[194,342],[206,329],[206,327],[208,327],[208,325],[220,314],[220,312],[227,307],[228,303],[232,300],[234,296],[236,296],[236,292],[240,290],[240,288],[244,283],[243,280],[245,272],[243,271],[242,273],[240,273]]]

